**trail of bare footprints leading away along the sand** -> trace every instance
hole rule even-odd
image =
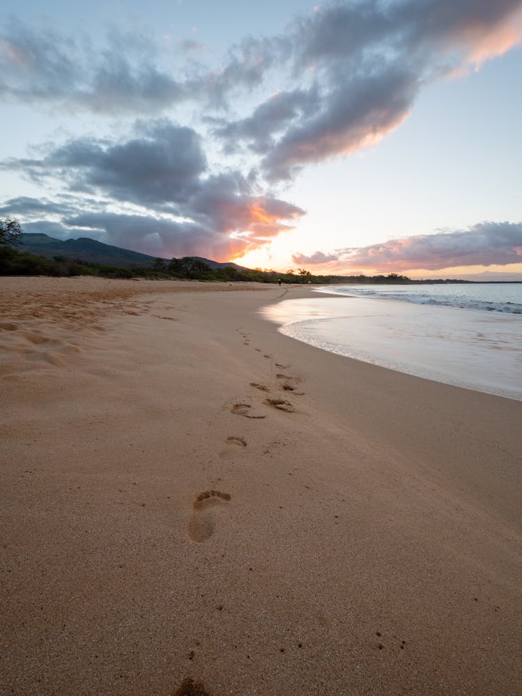
[[[242,332],[242,328],[239,327],[236,331]],[[250,344],[247,333],[241,333],[241,337],[244,345]],[[261,349],[257,347],[255,347],[254,350],[261,351]],[[270,354],[263,354],[263,357],[270,360],[272,359]],[[280,370],[285,370],[290,367],[290,365],[283,365],[282,363],[275,363],[275,365]],[[276,380],[275,388],[283,390],[283,392],[290,392],[293,395],[303,395],[303,392],[296,390],[296,384],[301,381],[300,377],[278,372],[276,373]],[[271,388],[266,384],[251,382],[250,386],[260,390],[264,394],[271,393]],[[266,406],[278,409],[278,411],[286,411],[287,413],[296,412],[294,405],[280,396],[267,397],[262,403]],[[243,416],[244,418],[252,418],[254,420],[267,417],[266,413],[261,413],[255,409],[252,404],[247,404],[246,402],[234,404],[230,409],[230,413],[233,413],[235,416]],[[228,436],[225,441],[225,447],[219,452],[219,457],[221,457],[221,459],[235,457],[238,450],[243,450],[246,446],[247,443],[244,438],[235,435]],[[214,489],[203,491],[203,493],[198,495],[192,504],[192,514],[187,524],[187,535],[191,541],[199,543],[201,541],[207,541],[207,539],[212,537],[216,528],[216,521],[228,508],[230,499],[230,493],[223,493],[222,491],[216,491]]]

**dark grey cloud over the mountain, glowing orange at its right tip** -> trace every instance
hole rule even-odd
[[[22,223],[93,230],[104,242],[145,253],[239,255],[292,229],[303,209],[256,190],[239,171],[209,174],[200,136],[167,120],[136,122],[132,137],[73,139],[48,145],[41,159],[13,160],[4,169],[72,194],[58,200],[12,198],[1,210]],[[141,207],[145,212],[129,213]],[[52,223],[49,217],[54,220]],[[47,232],[46,232],[47,233]]]

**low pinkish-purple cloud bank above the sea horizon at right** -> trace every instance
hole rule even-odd
[[[437,270],[522,262],[522,223],[482,222],[468,230],[438,232],[338,250],[345,268],[378,272]]]

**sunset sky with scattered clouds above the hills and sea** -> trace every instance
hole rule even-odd
[[[161,258],[522,280],[522,0],[4,0],[0,217]]]

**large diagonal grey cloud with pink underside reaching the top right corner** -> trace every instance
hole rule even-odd
[[[285,35],[293,88],[222,124],[216,135],[226,148],[244,141],[262,155],[272,182],[290,179],[303,166],[377,143],[408,116],[426,84],[514,45],[522,35],[520,10],[520,0],[363,0],[319,8]],[[307,89],[313,99],[305,98]]]

